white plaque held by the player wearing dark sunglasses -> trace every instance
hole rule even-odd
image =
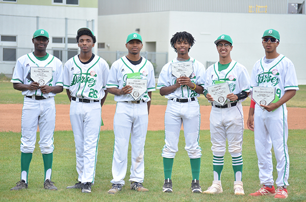
[[[275,99],[275,88],[253,86],[252,99],[258,105],[269,105]],[[264,107],[260,107],[264,109]]]

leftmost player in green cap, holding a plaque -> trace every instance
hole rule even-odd
[[[39,148],[44,163],[44,188],[57,190],[51,181],[53,163],[53,134],[55,129],[54,96],[63,91],[63,65],[55,56],[46,52],[49,34],[45,30],[35,31],[32,42],[34,52],[19,57],[11,82],[14,89],[24,96],[21,117],[21,179],[11,190],[28,188],[28,174],[35,148],[37,125],[39,126]],[[52,79],[40,83],[30,76],[34,67],[52,68]]]

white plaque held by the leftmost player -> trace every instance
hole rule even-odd
[[[52,79],[52,67],[31,67],[30,75],[39,86],[45,85]]]

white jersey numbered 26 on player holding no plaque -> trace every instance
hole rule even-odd
[[[69,89],[72,97],[101,100],[105,96],[108,74],[109,65],[98,55],[88,64],[81,63],[75,55],[65,63],[64,88]]]

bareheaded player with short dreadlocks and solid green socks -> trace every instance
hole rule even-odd
[[[175,153],[179,150],[180,130],[183,123],[186,146],[191,164],[193,193],[202,192],[199,185],[201,148],[199,146],[200,106],[197,97],[203,92],[205,67],[189,56],[188,52],[195,40],[190,33],[175,33],[170,44],[177,57],[167,63],[158,78],[157,89],[168,98],[165,112],[165,146],[162,150],[165,181],[163,192],[172,192],[172,166]],[[191,75],[176,78],[171,66],[192,62]],[[186,64],[187,64],[186,63]]]

